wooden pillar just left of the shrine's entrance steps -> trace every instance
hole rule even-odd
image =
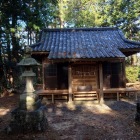
[[[72,70],[70,65],[68,68],[68,83],[69,83],[69,102],[72,102]]]

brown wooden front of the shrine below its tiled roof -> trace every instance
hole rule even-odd
[[[53,75],[51,67],[50,70],[46,69],[46,66],[49,65],[56,65],[56,73],[53,72]],[[103,102],[104,94],[107,96],[109,94],[116,95],[114,93],[118,93],[119,88],[125,88],[123,84],[125,82],[125,64],[123,61],[52,63],[44,59],[42,66],[43,89],[47,92],[46,94],[61,95],[61,90],[68,90],[69,101],[74,99],[74,96],[79,99],[83,97],[85,100],[88,100],[90,96],[93,97],[95,95],[97,97],[96,99]],[[67,71],[67,74],[64,74],[66,72],[63,71],[64,69]],[[105,79],[108,75],[109,78],[111,78]],[[121,77],[121,81],[123,81],[116,81],[115,84],[117,87],[113,87],[114,85],[111,84],[114,75],[118,75],[118,77]],[[106,85],[106,80],[108,80],[107,82],[110,84]],[[65,86],[63,86],[64,84]],[[78,87],[80,86],[92,86],[92,89],[88,91],[78,91]],[[111,88],[116,88],[116,92],[108,90]],[[58,90],[58,93],[52,92],[53,90]],[[45,92],[43,92],[43,94],[45,94]]]

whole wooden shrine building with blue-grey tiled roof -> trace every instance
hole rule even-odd
[[[42,63],[42,94],[73,99],[96,93],[103,100],[109,90],[125,89],[125,57],[140,52],[140,43],[118,28],[44,29],[30,47]]]

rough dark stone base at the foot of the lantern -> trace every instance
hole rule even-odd
[[[6,132],[8,134],[43,132],[47,129],[47,125],[44,107],[30,112],[17,108],[11,112],[11,122],[6,128]]]

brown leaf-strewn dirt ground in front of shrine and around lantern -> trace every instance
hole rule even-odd
[[[138,96],[140,98],[140,96]],[[75,101],[46,104],[48,129],[43,133],[7,135],[10,111],[18,106],[19,94],[0,98],[0,140],[139,140],[140,125],[135,123],[136,102]]]

